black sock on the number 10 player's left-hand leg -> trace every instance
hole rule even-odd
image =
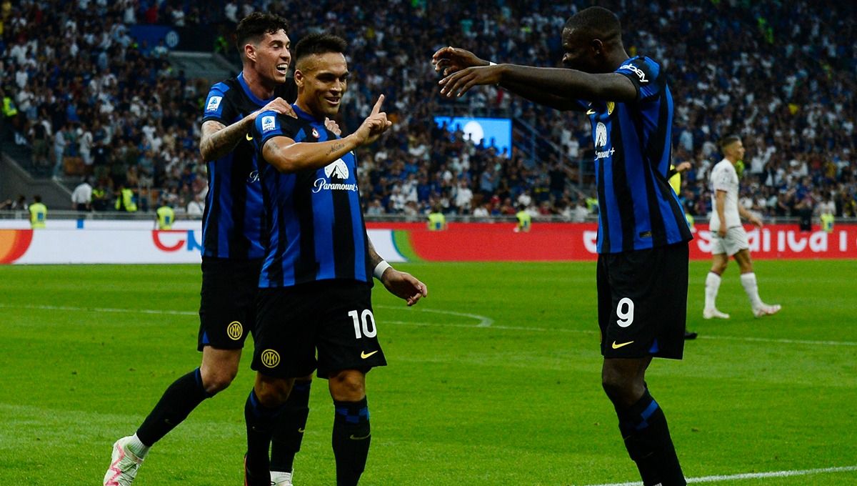
[[[250,392],[244,404],[244,421],[247,423],[246,461],[251,485],[258,483],[268,486],[271,483],[271,476],[268,474],[268,448],[271,447],[273,424],[280,411],[282,407],[271,409],[262,405],[255,390]],[[254,474],[259,477],[251,477]],[[264,475],[267,477],[262,478]]]

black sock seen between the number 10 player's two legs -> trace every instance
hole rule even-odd
[[[303,429],[309,416],[309,388],[312,381],[295,381],[283,411],[274,423],[271,438],[271,471],[290,472],[295,454],[301,450]]]

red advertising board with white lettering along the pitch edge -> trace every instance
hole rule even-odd
[[[370,223],[371,229],[407,233],[406,257],[425,261],[591,261],[596,259],[594,223],[535,223],[528,233],[512,223],[450,223],[428,231],[421,223]],[[830,233],[797,225],[746,226],[754,259],[857,258],[857,225],[836,225]],[[696,225],[691,258],[710,258],[708,225]],[[400,241],[400,238],[397,238]]]

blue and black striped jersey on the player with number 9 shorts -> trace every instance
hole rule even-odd
[[[673,97],[661,65],[632,57],[617,73],[637,88],[630,103],[578,100],[590,117],[598,190],[598,253],[650,249],[692,239],[667,182]]]

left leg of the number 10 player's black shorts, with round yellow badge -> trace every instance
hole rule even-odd
[[[260,289],[251,369],[274,378],[313,372],[316,328],[327,302],[308,285]]]

